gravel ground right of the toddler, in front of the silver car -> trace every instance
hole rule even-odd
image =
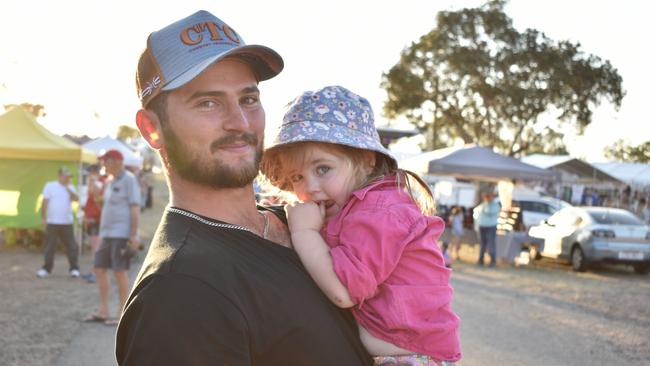
[[[463,366],[650,365],[650,276],[550,261],[454,265]]]

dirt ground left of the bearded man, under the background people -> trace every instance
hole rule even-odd
[[[167,187],[162,176],[156,178],[153,208],[145,210],[140,219],[140,235],[146,245],[167,204]],[[80,256],[82,274],[92,268],[89,252],[85,248]],[[132,271],[139,269],[142,258],[143,253],[135,257]],[[81,320],[97,308],[97,285],[68,275],[63,248],[56,253],[52,276],[36,277],[42,265],[40,248],[0,247],[0,365],[51,365],[86,325]],[[114,283],[111,296],[117,296]]]

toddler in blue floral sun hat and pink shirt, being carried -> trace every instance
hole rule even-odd
[[[300,199],[286,207],[293,246],[327,297],[352,309],[376,365],[460,360],[437,244],[445,224],[430,216],[426,183],[382,146],[365,98],[340,86],[300,95],[261,171]]]

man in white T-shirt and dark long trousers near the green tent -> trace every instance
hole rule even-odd
[[[78,201],[79,196],[70,183],[71,176],[70,169],[62,166],[59,168],[59,179],[48,182],[43,188],[41,221],[45,227],[45,264],[36,272],[39,278],[48,277],[52,273],[58,240],[64,242],[68,250],[70,277],[79,277],[79,247],[72,228],[72,202]]]

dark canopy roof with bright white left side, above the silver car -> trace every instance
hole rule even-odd
[[[521,158],[521,161],[542,169],[566,172],[569,175],[576,177],[577,181],[622,183],[621,180],[612,177],[598,167],[569,155],[533,154],[524,156]]]

